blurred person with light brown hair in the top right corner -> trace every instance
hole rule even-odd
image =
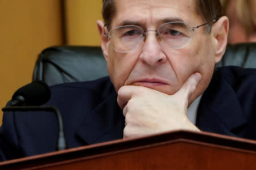
[[[221,0],[221,4],[229,18],[228,42],[256,42],[256,1]]]

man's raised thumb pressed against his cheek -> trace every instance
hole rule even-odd
[[[181,86],[180,90],[176,92],[175,95],[180,95],[188,99],[189,96],[196,90],[197,84],[201,80],[200,73],[193,73]]]

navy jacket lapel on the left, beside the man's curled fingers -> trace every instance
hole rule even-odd
[[[80,124],[76,134],[88,145],[123,138],[125,117],[112,92]]]

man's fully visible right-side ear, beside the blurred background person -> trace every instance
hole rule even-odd
[[[226,50],[226,44],[228,42],[229,32],[229,19],[226,16],[222,16],[213,24],[212,35],[214,37],[215,46],[215,63],[219,62]]]

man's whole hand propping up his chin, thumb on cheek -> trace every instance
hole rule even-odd
[[[187,117],[188,98],[200,79],[199,73],[192,74],[174,95],[143,86],[121,87],[117,102],[125,116],[123,138],[178,129],[200,131]]]

